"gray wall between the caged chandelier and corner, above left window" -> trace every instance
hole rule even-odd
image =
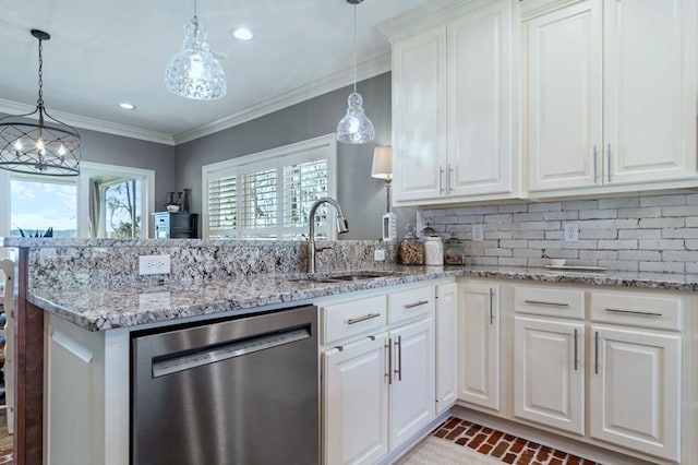
[[[171,145],[80,129],[85,162],[155,170],[155,211],[161,211],[167,193],[177,189],[176,154]]]

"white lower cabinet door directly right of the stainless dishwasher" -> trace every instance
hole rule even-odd
[[[384,333],[323,354],[324,463],[375,463],[388,452]]]

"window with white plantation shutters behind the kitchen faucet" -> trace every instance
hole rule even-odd
[[[335,196],[334,134],[203,167],[207,239],[301,239],[310,208]],[[334,212],[317,210],[316,235],[334,237]]]

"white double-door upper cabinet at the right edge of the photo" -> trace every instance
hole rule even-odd
[[[588,0],[522,33],[530,192],[696,183],[695,1]]]

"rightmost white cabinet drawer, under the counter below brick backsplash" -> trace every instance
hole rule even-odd
[[[591,293],[591,320],[681,331],[681,297],[649,293]]]

